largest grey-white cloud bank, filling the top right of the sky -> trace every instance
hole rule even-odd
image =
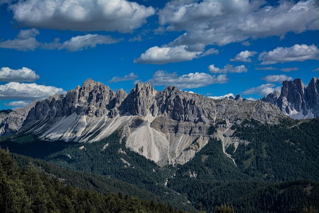
[[[249,0],[172,1],[158,11],[159,24],[166,31],[185,31],[171,46],[225,45],[249,38],[319,29],[316,0],[279,1],[276,6],[265,3]]]

